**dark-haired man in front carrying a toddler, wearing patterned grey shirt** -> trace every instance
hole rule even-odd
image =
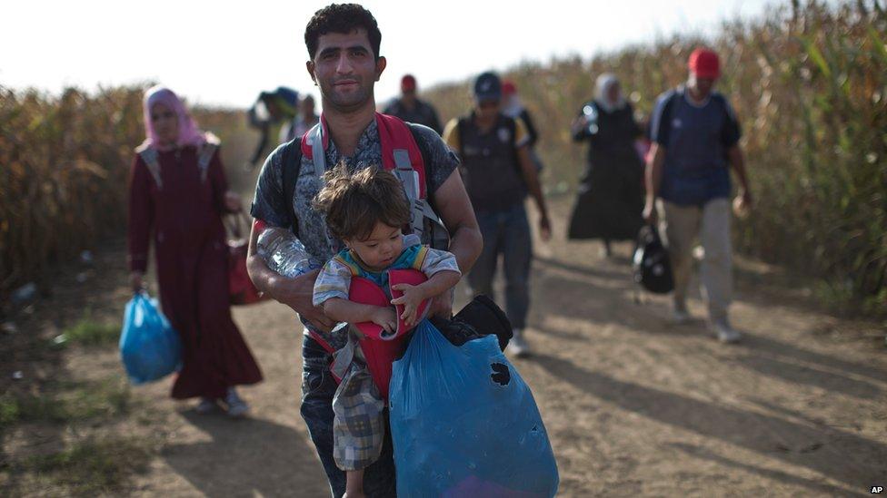
[[[341,240],[329,234],[324,213],[312,201],[322,190],[323,171],[344,162],[347,171],[358,171],[384,163],[378,117],[375,114],[374,83],[384,72],[385,59],[379,55],[381,33],[372,14],[360,5],[329,5],[314,14],[305,29],[305,44],[310,60],[308,72],[318,84],[323,99],[323,137],[314,142],[323,158],[301,154],[298,175],[293,186],[284,185],[284,146],[274,151],[264,163],[256,185],[252,215],[261,224],[289,228],[304,244],[311,259],[327,261],[344,249]],[[428,203],[450,234],[448,249],[465,273],[481,250],[481,235],[474,219],[471,202],[456,171],[458,159],[433,130],[409,125],[418,147],[424,151],[424,185]],[[310,132],[309,132],[310,134]],[[292,156],[288,156],[292,157]],[[290,190],[292,188],[292,190]],[[291,198],[286,198],[292,191]],[[290,211],[294,212],[294,220]],[[303,343],[302,415],[324,464],[334,496],[345,493],[346,477],[334,460],[333,396],[337,384],[330,375],[332,349],[344,347],[348,338],[331,334],[336,320],[324,307],[314,306],[314,284],[319,270],[306,269],[296,278],[284,278],[268,269],[257,254],[260,230],[254,225],[250,238],[248,268],[260,290],[293,308],[305,325]],[[430,231],[422,232],[422,242],[431,241]],[[432,299],[430,315],[448,315],[452,291],[444,290]],[[325,343],[325,344],[324,344]],[[364,472],[364,493],[369,496],[394,496],[394,462],[391,438],[386,435],[378,460]]]

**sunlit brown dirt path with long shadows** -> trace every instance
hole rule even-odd
[[[555,203],[555,219],[566,203]],[[663,298],[634,303],[627,245],[605,261],[596,244],[563,233],[562,221],[556,242],[537,247],[535,355],[515,362],[552,437],[561,495],[844,495],[887,485],[882,331],[828,317],[744,264],[733,321],[745,340],[723,346],[701,320],[665,326]],[[703,316],[698,297],[691,308]],[[166,398],[168,381],[138,388],[161,415],[129,424],[162,435],[164,449],[136,478],[136,495],[326,495],[298,413],[293,313],[265,303],[234,316],[266,378],[244,389],[252,418],[195,415]],[[110,351],[70,361],[119,368]]]

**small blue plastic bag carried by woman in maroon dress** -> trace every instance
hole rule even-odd
[[[146,292],[126,303],[120,357],[136,386],[163,378],[182,365],[182,339]]]

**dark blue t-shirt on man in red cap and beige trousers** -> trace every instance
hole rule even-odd
[[[722,94],[712,93],[695,104],[683,87],[663,93],[651,122],[653,142],[665,148],[660,197],[683,206],[730,197],[727,151],[741,135]]]

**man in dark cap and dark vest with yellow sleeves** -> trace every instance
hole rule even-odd
[[[468,274],[475,295],[493,297],[493,277],[503,258],[505,312],[512,322],[509,351],[529,354],[523,337],[530,307],[530,262],[533,256],[530,224],[523,200],[526,192],[539,210],[539,230],[551,238],[536,165],[530,157],[530,137],[520,118],[501,112],[502,82],[495,73],[483,73],[473,87],[473,111],[447,123],[443,140],[462,158],[465,188],[483,235],[483,251]]]

